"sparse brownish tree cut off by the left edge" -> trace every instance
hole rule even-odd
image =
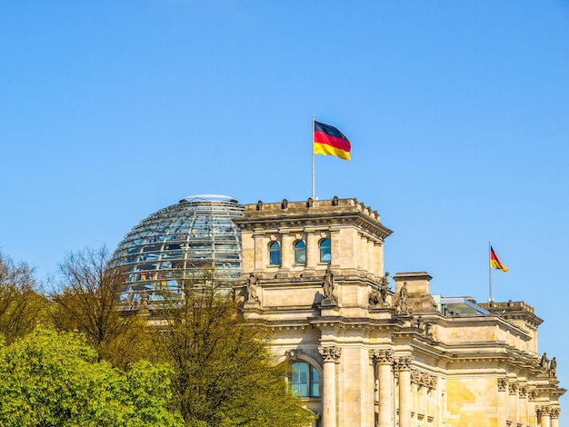
[[[32,332],[44,319],[45,298],[35,285],[32,267],[0,253],[0,334],[6,343]]]

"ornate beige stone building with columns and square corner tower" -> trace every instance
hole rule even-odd
[[[320,427],[557,427],[555,361],[523,302],[429,292],[384,271],[379,214],[355,199],[245,205],[236,298],[274,332]]]

